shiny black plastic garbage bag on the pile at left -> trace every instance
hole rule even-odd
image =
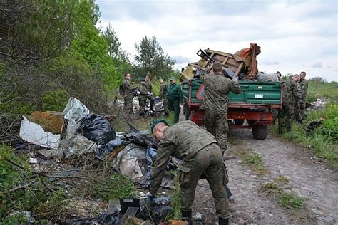
[[[115,138],[115,131],[109,121],[105,117],[93,113],[83,117],[78,125],[77,132],[96,142],[97,145],[106,145]]]

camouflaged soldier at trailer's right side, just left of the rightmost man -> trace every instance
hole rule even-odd
[[[278,113],[278,133],[282,134],[283,127],[287,127],[287,132],[291,131],[292,121],[295,119],[295,104],[299,107],[301,97],[299,75],[292,75],[283,85],[283,104],[282,110]]]

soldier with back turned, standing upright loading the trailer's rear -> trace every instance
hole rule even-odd
[[[205,110],[205,128],[216,137],[222,153],[227,150],[227,102],[228,94],[232,91],[240,93],[237,78],[230,80],[222,75],[222,63],[212,64],[210,74],[201,74],[204,84],[204,99],[201,108]]]

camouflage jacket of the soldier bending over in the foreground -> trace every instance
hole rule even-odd
[[[150,194],[155,196],[162,182],[171,156],[190,160],[203,147],[215,143],[215,137],[203,130],[195,122],[182,121],[168,127],[163,132],[163,138],[158,143],[158,152],[153,162],[153,173],[150,177]],[[208,159],[206,159],[208,160]]]

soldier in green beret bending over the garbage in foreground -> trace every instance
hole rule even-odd
[[[150,199],[155,197],[165,174],[165,167],[173,156],[183,160],[179,167],[183,218],[191,221],[196,185],[201,175],[205,174],[212,190],[219,224],[228,224],[229,205],[225,192],[227,170],[215,137],[192,121],[182,121],[168,127],[165,120],[155,120],[151,132],[159,143],[150,177]]]

